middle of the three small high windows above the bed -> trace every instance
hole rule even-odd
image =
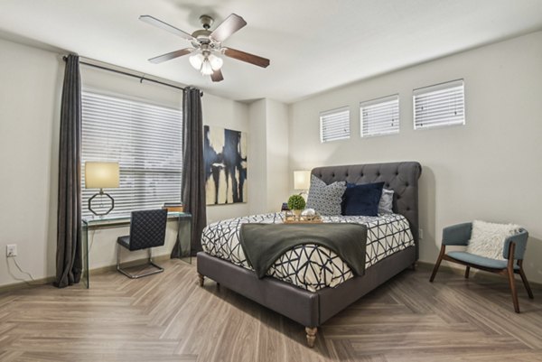
[[[360,103],[361,137],[399,133],[399,95]]]

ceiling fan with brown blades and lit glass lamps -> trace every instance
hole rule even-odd
[[[224,79],[222,71],[220,70],[220,68],[222,68],[223,60],[218,56],[221,54],[224,54],[229,58],[246,61],[262,68],[266,68],[269,65],[269,60],[266,58],[222,46],[222,42],[228,39],[229,35],[247,25],[247,22],[245,22],[238,14],[230,14],[213,31],[210,31],[210,26],[214,23],[214,19],[209,15],[201,15],[200,22],[201,25],[203,25],[203,29],[196,30],[195,32],[192,32],[192,34],[183,32],[181,29],[175,28],[169,23],[164,23],[151,15],[141,15],[139,16],[139,20],[150,23],[166,32],[172,32],[173,34],[179,35],[192,43],[192,48],[168,52],[149,59],[149,61],[153,63],[158,64],[166,60],[172,60],[182,57],[183,55],[192,54],[189,59],[192,67],[196,70],[200,70],[203,75],[210,75],[210,79],[214,82],[219,82]]]

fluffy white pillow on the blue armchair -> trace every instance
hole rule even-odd
[[[471,240],[467,246],[467,253],[506,260],[502,257],[504,240],[517,234],[519,228],[521,228],[519,225],[474,220],[472,221]]]

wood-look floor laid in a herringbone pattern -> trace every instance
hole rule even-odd
[[[325,323],[315,348],[303,326],[254,302],[196,283],[194,265],[92,288],[0,294],[0,361],[542,361],[542,289],[405,271]]]

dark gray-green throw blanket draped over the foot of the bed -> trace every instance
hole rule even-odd
[[[361,224],[243,224],[240,242],[258,278],[263,278],[285,251],[303,244],[325,246],[354,274],[365,274],[367,227]]]

